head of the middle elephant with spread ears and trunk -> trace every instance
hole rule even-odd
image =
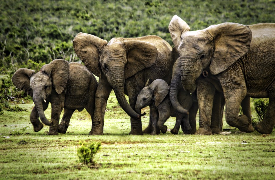
[[[157,48],[139,38],[113,38],[106,40],[91,34],[78,33],[73,40],[74,51],[96,76],[106,76],[118,103],[132,118],[139,118],[124,95],[125,79],[144,68],[152,66],[157,59]]]

